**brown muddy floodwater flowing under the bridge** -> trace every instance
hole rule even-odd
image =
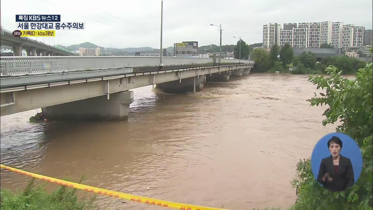
[[[305,101],[316,92],[307,78],[250,74],[179,95],[141,87],[125,122],[29,123],[40,109],[3,116],[1,164],[180,203],[287,208],[297,162],[335,131],[322,126],[326,107]],[[29,179],[1,170],[4,189]],[[162,209],[122,201],[97,198],[100,209]]]

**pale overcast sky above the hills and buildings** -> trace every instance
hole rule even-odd
[[[372,0],[164,0],[163,47],[182,41],[199,46],[262,42],[269,22],[342,21],[372,29]],[[47,8],[47,9],[46,9]],[[69,46],[89,41],[102,47],[160,47],[161,0],[2,0],[1,25],[16,29],[15,15],[61,15],[62,22],[85,22],[82,31],[56,31],[49,44]],[[42,40],[43,37],[38,37]]]

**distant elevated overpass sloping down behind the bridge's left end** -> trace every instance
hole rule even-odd
[[[27,37],[15,37],[12,31],[1,28],[0,35],[1,45],[13,47],[13,54],[15,56],[21,56],[22,50],[26,50],[28,56],[38,55],[78,55],[78,53],[71,52],[58,46],[50,46],[48,44],[29,39]]]

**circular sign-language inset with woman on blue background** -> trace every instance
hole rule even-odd
[[[344,133],[330,133],[319,140],[311,156],[313,176],[325,189],[345,191],[358,180],[363,158],[357,143]]]

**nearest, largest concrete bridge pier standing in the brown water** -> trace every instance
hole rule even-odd
[[[134,101],[132,91],[111,93],[80,101],[41,108],[47,120],[101,120],[124,121],[128,119],[129,105]]]

